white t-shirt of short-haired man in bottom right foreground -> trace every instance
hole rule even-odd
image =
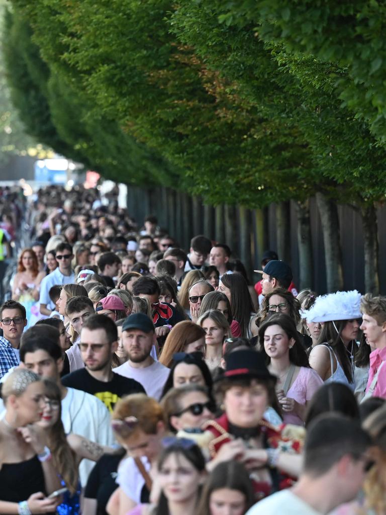
[[[254,504],[247,515],[322,515],[293,494],[291,490],[276,492]]]

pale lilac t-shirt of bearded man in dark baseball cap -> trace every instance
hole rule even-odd
[[[159,361],[155,361],[146,368],[134,368],[129,362],[113,368],[113,372],[131,377],[145,388],[149,397],[154,397],[157,401],[161,399],[162,389],[169,376],[170,370],[162,365]]]

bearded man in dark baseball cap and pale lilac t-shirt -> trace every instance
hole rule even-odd
[[[122,325],[122,344],[129,359],[113,371],[135,379],[148,396],[159,400],[170,370],[150,356],[155,342],[154,324],[148,316],[134,313],[127,317]]]

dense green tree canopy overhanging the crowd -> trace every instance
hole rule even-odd
[[[316,191],[384,198],[380,7],[11,4],[24,38],[10,39],[8,67],[22,60],[39,97],[20,98],[23,84],[16,99],[13,81],[23,119],[36,116],[44,142],[105,176],[250,207]],[[38,114],[27,112],[33,101]]]

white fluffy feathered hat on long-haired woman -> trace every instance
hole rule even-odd
[[[308,322],[330,322],[332,320],[353,320],[362,318],[361,294],[357,290],[337,291],[317,297],[309,310],[301,316]]]

